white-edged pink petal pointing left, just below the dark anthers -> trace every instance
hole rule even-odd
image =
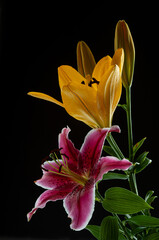
[[[59,161],[62,164],[62,161]],[[55,168],[59,169],[59,166],[54,161],[48,161],[43,163],[42,168],[54,172],[58,172]],[[73,183],[73,181],[65,176],[58,175],[56,173],[47,172],[43,170],[43,176],[41,179],[35,181],[35,184],[45,189],[61,188],[67,184]]]

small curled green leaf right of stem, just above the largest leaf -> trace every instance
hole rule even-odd
[[[139,173],[143,171],[151,162],[152,160],[147,157],[148,152],[143,152],[140,156],[136,159],[136,166],[134,167],[134,173]]]

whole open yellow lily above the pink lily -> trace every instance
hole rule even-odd
[[[79,51],[77,56],[81,56],[82,51]],[[86,55],[89,55],[89,51],[90,49],[87,48]],[[29,92],[28,94],[58,104],[72,117],[92,128],[110,127],[122,91],[124,51],[117,49],[113,58],[103,57],[96,65],[95,60],[92,61],[90,65],[94,65],[94,69],[88,67],[90,63],[88,60],[89,58],[86,60],[85,69],[83,60],[78,62],[81,74],[68,65],[58,68],[62,102],[44,93]]]

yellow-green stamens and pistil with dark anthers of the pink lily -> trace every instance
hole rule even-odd
[[[60,152],[60,150],[58,150]],[[52,167],[52,169],[45,169],[42,167],[47,172],[51,172],[63,177],[68,177],[74,182],[85,186],[87,181],[88,181],[88,176],[86,175],[80,175],[74,171],[72,171],[69,166],[68,166],[68,156],[65,154],[60,153],[60,158],[58,158],[56,152],[50,153],[49,157],[54,160],[54,163],[51,163],[50,161],[46,160],[46,162]]]

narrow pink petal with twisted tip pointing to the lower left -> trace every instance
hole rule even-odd
[[[67,186],[64,186],[63,188],[59,189],[53,189],[53,190],[46,190],[43,192],[39,198],[36,200],[34,208],[27,214],[27,219],[30,221],[33,214],[37,211],[38,208],[44,208],[46,203],[49,201],[56,201],[64,199],[74,188],[74,185],[70,184]]]

